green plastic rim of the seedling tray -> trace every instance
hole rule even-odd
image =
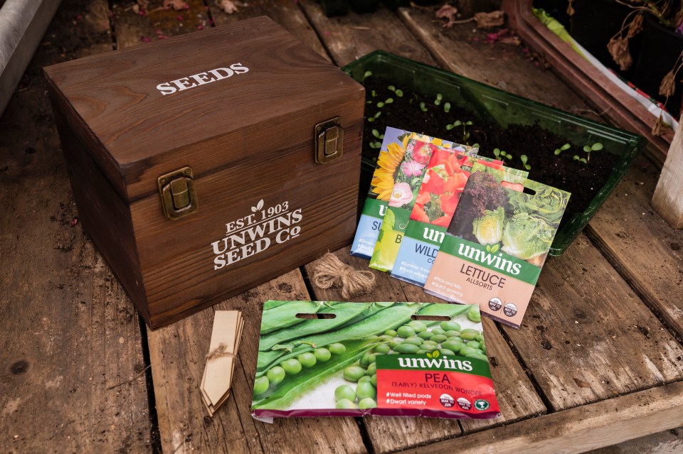
[[[477,82],[476,80],[468,79],[467,77],[457,75],[453,72],[442,70],[438,67],[425,65],[424,63],[416,62],[409,58],[403,58],[392,53],[388,53],[384,50],[374,50],[361,58],[352,61],[348,65],[342,67],[342,70],[346,72],[347,75],[351,76],[351,72],[358,70],[357,73],[364,73],[366,70],[371,69],[371,65],[393,65],[396,69],[402,69],[403,67],[412,67],[413,70],[418,70],[425,73],[426,75],[440,75],[440,77],[445,77],[452,82],[457,83],[457,85],[469,85],[476,87],[478,90],[483,90],[489,92],[492,97],[497,97],[501,100],[512,99],[519,104],[526,104],[534,111],[540,111],[539,117],[542,113],[553,114],[555,117],[561,117],[561,121],[571,121],[573,124],[579,124],[594,131],[598,131],[600,134],[605,136],[613,136],[615,139],[619,139],[630,145],[628,151],[622,153],[620,161],[614,166],[610,177],[608,178],[605,185],[595,194],[593,200],[588,205],[586,210],[580,215],[574,215],[572,219],[560,229],[555,235],[553,245],[550,248],[549,255],[560,256],[565,252],[569,245],[573,242],[578,234],[581,233],[584,227],[588,225],[591,217],[595,215],[598,208],[603,205],[603,202],[608,198],[608,195],[614,190],[616,185],[619,183],[621,178],[626,174],[628,169],[632,166],[638,153],[640,153],[643,146],[645,146],[645,137],[639,134],[633,134],[623,129],[614,128],[612,126],[607,126],[605,124],[600,124],[586,117],[581,117],[574,114],[569,114],[561,109],[556,109],[555,107],[550,107],[546,104],[541,104],[540,102],[532,101],[531,99],[518,96],[517,94],[512,94],[505,92],[504,90],[499,90],[489,85]],[[360,69],[359,69],[360,68]],[[358,82],[361,82],[358,80]],[[426,93],[432,94],[432,93]],[[366,158],[362,158],[361,161],[361,173],[365,173],[367,176],[371,176],[374,172],[375,164]]]

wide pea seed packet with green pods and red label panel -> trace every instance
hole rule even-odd
[[[254,418],[500,416],[478,306],[314,301],[292,323],[296,303],[268,310],[282,328],[260,336]]]

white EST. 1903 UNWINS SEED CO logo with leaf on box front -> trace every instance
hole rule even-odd
[[[226,224],[226,237],[211,243],[213,269],[221,269],[259,254],[272,244],[282,244],[301,234],[302,209],[290,202],[264,207],[263,199],[251,207],[252,214]]]

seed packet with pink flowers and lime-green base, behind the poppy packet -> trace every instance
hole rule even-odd
[[[454,151],[475,154],[477,148],[452,144]],[[435,144],[417,139],[408,141],[406,153],[398,168],[396,182],[391,191],[386,212],[382,220],[375,249],[370,258],[370,267],[380,271],[391,271],[401,247],[403,234],[408,227],[408,219],[418,198],[418,191],[427,172],[427,165],[435,151],[444,151]]]

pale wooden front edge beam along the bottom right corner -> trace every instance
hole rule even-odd
[[[598,446],[621,443],[682,424],[683,383],[679,382],[403,453],[583,453]],[[676,452],[656,448],[647,452],[655,451]]]

